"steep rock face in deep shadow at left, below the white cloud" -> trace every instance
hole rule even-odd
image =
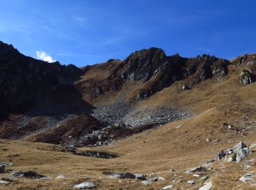
[[[72,88],[82,73],[74,65],[62,66],[57,61],[49,64],[23,56],[12,45],[0,42],[0,113],[26,110],[60,88]]]

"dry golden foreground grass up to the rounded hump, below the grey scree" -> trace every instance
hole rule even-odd
[[[251,104],[252,114],[255,105]],[[203,186],[199,178],[187,174],[189,167],[196,167],[214,158],[215,154],[225,148],[235,145],[240,140],[251,144],[255,142],[255,130],[246,136],[235,134],[230,129],[223,129],[222,121],[239,118],[232,115],[236,106],[227,107],[226,114],[222,110],[212,108],[186,121],[175,121],[150,129],[140,134],[121,140],[115,145],[98,147],[97,150],[120,153],[116,159],[94,159],[85,156],[75,156],[72,153],[61,152],[58,145],[33,143],[23,141],[0,141],[0,160],[12,161],[12,170],[34,170],[48,177],[66,175],[61,180],[32,180],[20,178],[10,185],[1,185],[0,189],[72,189],[77,183],[85,180],[97,184],[98,189],[161,189],[173,183],[176,188],[196,189]],[[239,111],[239,110],[238,110]],[[179,128],[176,126],[181,125]],[[206,142],[206,138],[211,141]],[[219,140],[214,143],[214,140]],[[80,148],[83,150],[85,148]],[[94,149],[94,148],[86,148]],[[251,157],[255,157],[255,153]],[[244,175],[241,164],[225,164],[225,172],[219,169],[219,161],[211,166],[203,175],[209,175],[214,189],[249,189],[249,185],[238,180]],[[241,162],[244,163],[244,162]],[[252,164],[255,170],[255,164]],[[176,171],[170,172],[173,168]],[[142,186],[140,180],[111,179],[102,172],[154,172],[155,176],[166,180],[154,182],[151,186]],[[10,174],[6,173],[5,176]],[[3,174],[0,177],[4,176]],[[181,178],[181,175],[184,178]],[[187,180],[195,180],[195,185],[187,184]]]

